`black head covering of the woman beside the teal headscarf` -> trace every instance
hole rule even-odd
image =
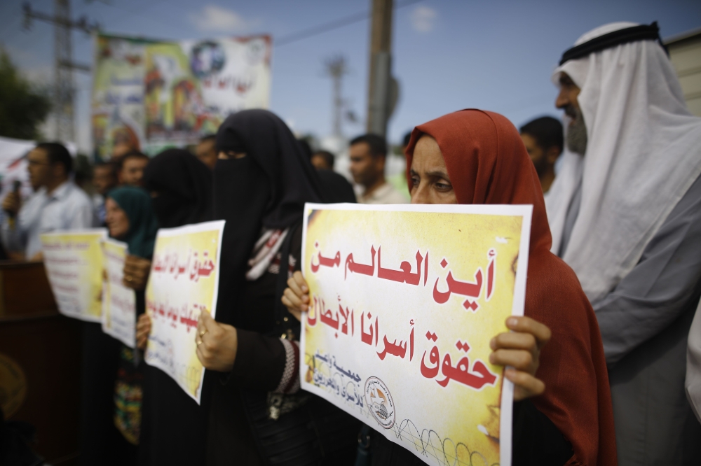
[[[168,149],[151,159],[144,187],[158,192],[153,206],[162,228],[212,218],[212,171],[187,150]]]

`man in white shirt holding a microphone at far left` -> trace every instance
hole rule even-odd
[[[39,235],[95,226],[88,195],[70,181],[73,160],[60,143],[41,143],[27,155],[34,194],[22,205],[17,192],[5,197],[2,239],[8,250],[41,260]]]

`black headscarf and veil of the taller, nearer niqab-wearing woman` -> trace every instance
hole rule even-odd
[[[217,132],[217,150],[246,154],[217,160],[214,170],[214,214],[226,220],[217,320],[233,324],[247,260],[261,229],[291,227],[301,220],[305,202],[326,199],[292,132],[269,111],[245,110],[226,118]]]

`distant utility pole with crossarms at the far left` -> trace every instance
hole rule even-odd
[[[76,64],[72,60],[71,30],[79,29],[86,34],[98,29],[97,23],[88,24],[85,16],[72,21],[69,0],[54,0],[54,14],[48,15],[32,10],[24,4],[25,29],[32,26],[32,20],[41,20],[54,27],[54,83],[53,112],[55,115],[55,138],[59,141],[74,141],[73,125],[73,70],[90,71],[90,66]]]

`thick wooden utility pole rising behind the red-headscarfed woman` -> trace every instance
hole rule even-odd
[[[381,136],[399,95],[392,77],[392,11],[393,0],[372,0],[367,131]]]

